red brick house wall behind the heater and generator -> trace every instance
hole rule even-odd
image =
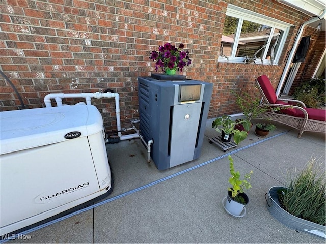
[[[258,96],[254,80],[261,74],[277,86],[299,23],[307,16],[274,0],[188,2],[2,0],[0,68],[27,108],[44,107],[48,93],[110,88],[120,94],[123,127],[130,127],[128,121],[139,116],[137,77],[155,70],[150,51],[166,42],[184,43],[191,53],[192,64],[183,72],[187,78],[214,83],[209,117],[240,112],[230,91],[248,90]],[[218,63],[228,3],[294,25],[279,65]],[[16,94],[2,78],[0,89],[0,110],[18,109]],[[114,100],[93,99],[93,103],[105,126],[114,130]]]

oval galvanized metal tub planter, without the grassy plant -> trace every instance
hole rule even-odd
[[[322,239],[326,239],[326,227],[316,223],[295,217],[285,211],[278,200],[277,191],[284,187],[271,187],[265,194],[267,209],[271,216],[277,219],[282,224],[299,232],[307,233]],[[268,195],[268,198],[266,198]]]

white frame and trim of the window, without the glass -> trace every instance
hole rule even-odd
[[[252,22],[256,22],[256,23],[260,23],[260,24],[264,24],[264,25],[268,25],[271,26],[271,31],[270,33],[274,33],[275,28],[280,29],[281,31],[283,31],[283,36],[282,39],[279,40],[280,41],[280,47],[282,48],[278,48],[277,53],[275,53],[275,57],[274,57],[274,64],[273,65],[278,65],[279,59],[281,57],[285,42],[286,42],[286,38],[289,34],[289,29],[291,26],[291,24],[288,24],[286,22],[283,22],[281,20],[277,20],[277,19],[273,19],[267,16],[264,16],[262,14],[258,14],[255,13],[253,11],[247,10],[247,9],[242,9],[240,7],[237,7],[235,5],[229,4],[227,7],[227,11],[226,11],[226,15],[231,16],[231,17],[235,17],[239,19],[239,23],[238,23],[238,28],[237,28],[237,32],[236,35],[234,37],[234,47],[232,49],[232,53],[231,56],[226,58],[223,56],[219,56],[218,57],[218,62],[222,63],[222,62],[229,62],[229,63],[244,63],[243,57],[235,57],[235,52],[237,50],[237,43],[239,42],[239,38],[240,38],[240,32],[241,29],[239,28],[239,26],[242,26],[242,22],[243,20],[249,20]],[[269,35],[269,40],[268,42],[270,43],[271,38],[273,37],[273,35]],[[269,45],[266,46],[266,49],[268,50]],[[265,50],[266,50],[265,49]],[[265,59],[266,58],[266,52],[264,53],[263,56],[263,64],[264,65],[270,65],[270,60],[269,59]],[[256,64],[261,64],[261,60],[257,59]]]

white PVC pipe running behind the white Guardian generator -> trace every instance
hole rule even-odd
[[[120,121],[120,96],[118,93],[50,93],[44,97],[44,103],[46,107],[52,107],[51,99],[55,99],[57,106],[63,106],[63,98],[85,98],[86,104],[91,104],[91,98],[115,98],[116,102],[116,118],[117,118],[117,130],[118,136],[121,138],[121,121]],[[135,137],[134,137],[135,138]]]

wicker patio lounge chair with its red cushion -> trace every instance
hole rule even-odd
[[[306,108],[299,100],[277,98],[274,88],[266,75],[256,79],[259,91],[263,96],[260,107],[280,108],[279,111],[268,109],[257,118],[277,121],[299,130],[298,138],[304,131],[326,132],[326,110]]]

